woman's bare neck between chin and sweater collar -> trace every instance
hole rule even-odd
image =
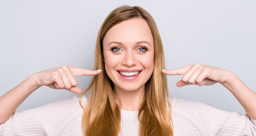
[[[144,97],[145,87],[142,86],[135,91],[125,91],[115,87],[116,103],[120,109],[126,111],[139,111],[141,101]]]

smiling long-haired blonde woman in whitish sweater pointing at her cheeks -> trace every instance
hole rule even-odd
[[[0,97],[1,135],[255,135],[256,94],[233,73],[189,65],[164,70],[163,45],[154,19],[141,7],[112,11],[98,33],[95,69],[62,66],[29,76]],[[166,75],[182,74],[177,86],[221,83],[247,115],[168,96]],[[76,94],[76,75],[94,75],[79,100],[57,101],[16,113],[41,86]],[[85,93],[92,89],[88,99]],[[19,95],[16,95],[19,94]],[[232,128],[232,129],[230,129]]]

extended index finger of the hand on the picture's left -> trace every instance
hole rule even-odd
[[[73,75],[97,75],[100,74],[102,70],[88,70],[81,69],[79,67],[71,67],[71,73]]]

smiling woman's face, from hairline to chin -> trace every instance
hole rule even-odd
[[[115,91],[144,90],[154,69],[154,39],[144,19],[114,25],[103,39],[103,50]]]

